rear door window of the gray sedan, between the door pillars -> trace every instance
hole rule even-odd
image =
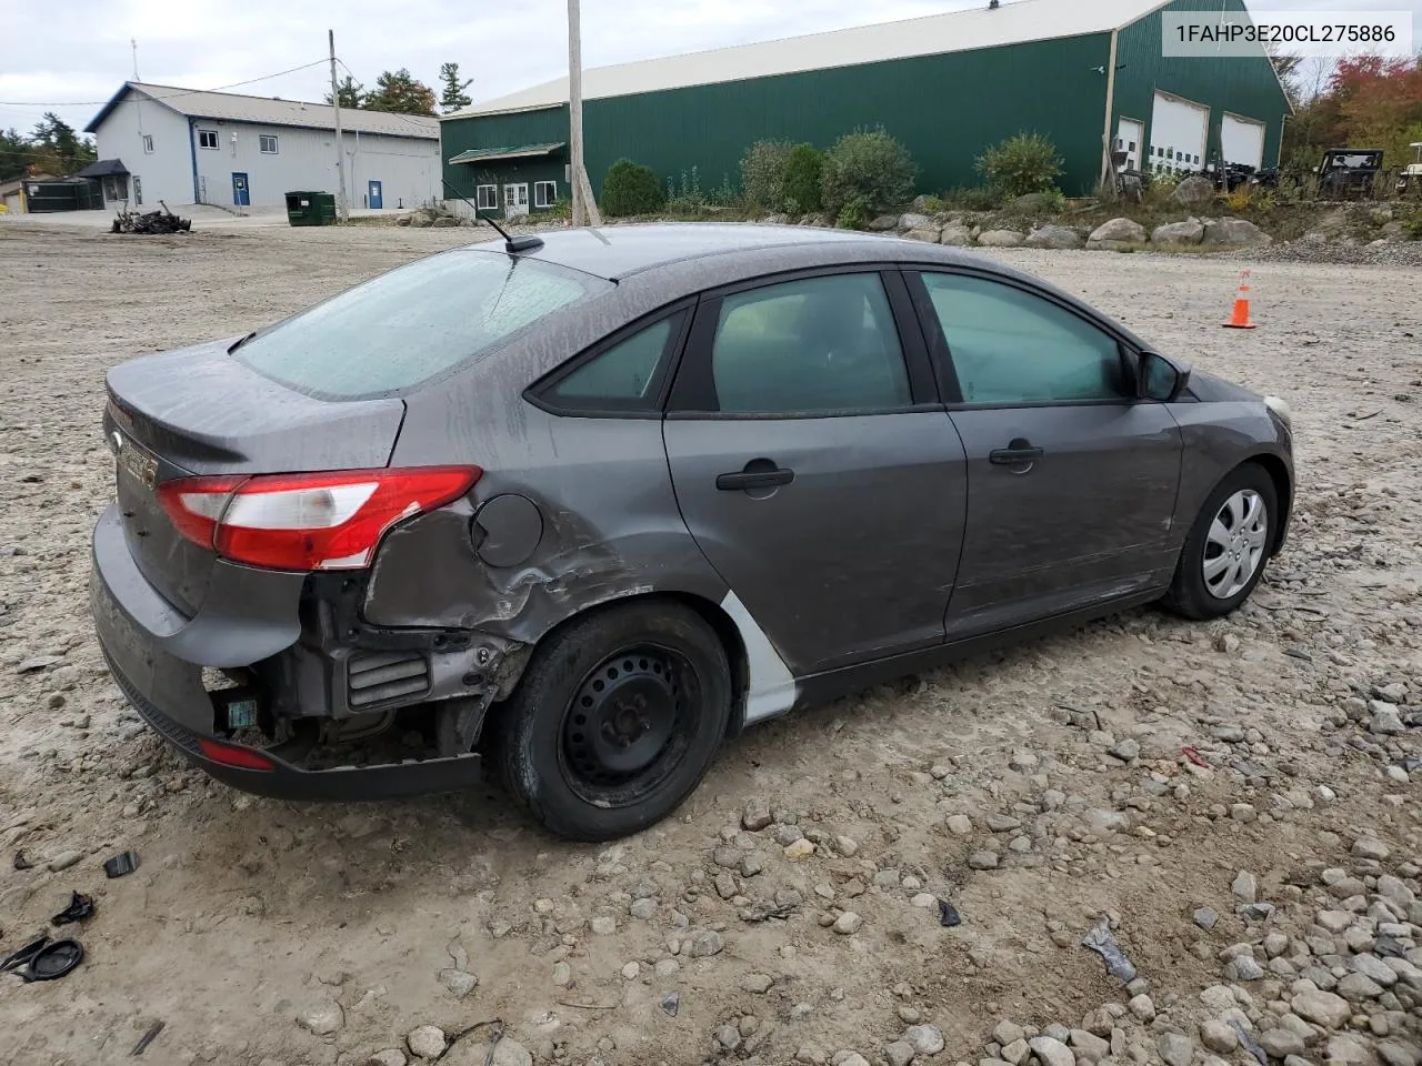
[[[735,293],[711,345],[718,409],[815,415],[907,407],[903,348],[876,273]]]

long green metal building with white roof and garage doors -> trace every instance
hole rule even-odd
[[[1278,161],[1291,114],[1274,67],[1163,55],[1163,11],[1244,0],[1018,0],[583,72],[586,166],[594,190],[626,156],[702,190],[739,181],[761,138],[828,148],[860,126],[907,145],[920,192],[981,183],[974,161],[1018,131],[1049,136],[1061,185],[1089,192],[1108,142],[1139,169],[1192,172],[1223,159]],[[444,176],[506,216],[570,198],[567,78],[441,121]]]

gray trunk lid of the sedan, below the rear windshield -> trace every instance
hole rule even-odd
[[[328,402],[294,392],[229,355],[235,340],[108,372],[104,436],[118,459],[128,550],[149,584],[189,615],[202,607],[216,553],[178,532],[158,502],[159,485],[385,466],[405,415],[400,399]]]

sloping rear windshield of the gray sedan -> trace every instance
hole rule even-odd
[[[445,252],[277,323],[233,354],[259,374],[316,397],[388,395],[611,287],[538,260]]]

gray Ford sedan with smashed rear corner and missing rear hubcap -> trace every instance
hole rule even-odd
[[[1287,408],[998,263],[774,226],[445,252],[108,375],[112,674],[215,777],[633,833],[745,726],[1283,544]]]

